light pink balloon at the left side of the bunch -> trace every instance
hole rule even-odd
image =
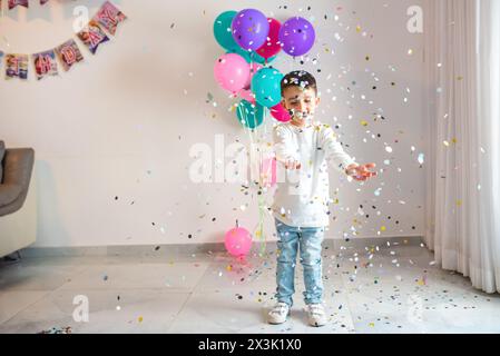
[[[242,56],[226,53],[215,62],[214,76],[220,87],[237,93],[249,81],[251,67]]]

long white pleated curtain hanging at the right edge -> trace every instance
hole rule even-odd
[[[427,0],[428,246],[500,291],[500,0]]]

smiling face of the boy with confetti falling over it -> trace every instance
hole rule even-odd
[[[283,107],[292,115],[292,123],[303,126],[313,119],[320,98],[312,88],[287,87],[283,90]]]

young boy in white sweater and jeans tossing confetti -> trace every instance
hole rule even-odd
[[[327,125],[313,121],[320,103],[316,80],[305,71],[293,71],[282,80],[282,105],[292,115],[288,123],[274,129],[276,159],[286,169],[278,182],[273,211],[278,237],[276,270],[277,304],[268,313],[269,324],[283,324],[293,305],[297,250],[304,268],[304,299],[311,326],[326,324],[323,303],[322,241],[329,226],[329,164],[355,180],[376,172],[374,164],[357,165],[335,139]]]

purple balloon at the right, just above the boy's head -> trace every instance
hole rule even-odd
[[[310,21],[295,17],[283,23],[278,39],[283,50],[296,57],[307,53],[313,48],[316,32]]]

